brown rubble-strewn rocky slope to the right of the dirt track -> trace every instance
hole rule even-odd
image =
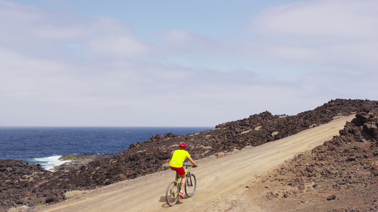
[[[256,201],[281,211],[378,211],[378,105],[339,132],[264,176],[252,187],[262,191]]]

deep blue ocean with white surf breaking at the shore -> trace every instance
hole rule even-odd
[[[0,127],[0,159],[25,160],[51,169],[62,155],[118,154],[131,143],[168,132],[187,135],[212,127]]]

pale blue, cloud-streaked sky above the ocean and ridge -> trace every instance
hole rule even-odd
[[[376,0],[0,0],[0,126],[208,126],[378,100]]]

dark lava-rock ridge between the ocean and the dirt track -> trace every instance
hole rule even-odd
[[[363,113],[376,117],[374,111],[377,110],[378,101],[336,99],[314,110],[292,116],[272,115],[265,111],[195,134],[154,135],[142,143],[131,144],[127,150],[117,155],[94,160],[88,157],[78,158],[75,159],[75,164],[60,165],[54,172],[46,171],[38,164],[29,165],[25,161],[0,160],[0,211],[21,205],[34,207],[38,204],[57,203],[66,199],[65,192],[69,190],[95,189],[168,169],[172,151],[182,141],[189,144],[194,159],[212,155],[225,157],[225,154],[234,149],[259,146],[328,123],[337,117],[351,114],[363,117]],[[374,121],[369,123],[374,125]],[[372,139],[376,140],[375,137],[369,139],[372,144]],[[376,148],[376,145],[373,147]],[[374,153],[370,155],[375,156]]]

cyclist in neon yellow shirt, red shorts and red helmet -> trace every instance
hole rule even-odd
[[[181,176],[181,190],[178,195],[180,195],[181,198],[184,198],[183,188],[185,186],[186,176],[185,176],[185,169],[183,167],[183,162],[187,158],[194,167],[197,167],[197,164],[193,161],[193,159],[190,157],[189,152],[186,151],[187,144],[186,143],[180,143],[179,145],[180,149],[175,150],[175,152],[172,155],[172,159],[169,161],[170,169],[176,170],[176,179]]]

